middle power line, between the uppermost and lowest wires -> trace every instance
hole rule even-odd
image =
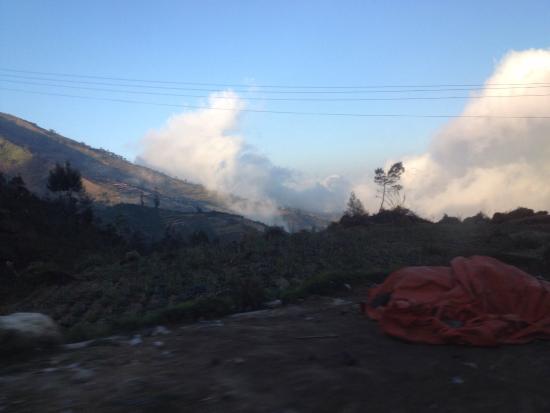
[[[0,82],[8,82],[15,84],[23,85],[32,85],[32,86],[46,86],[46,87],[56,87],[56,88],[68,88],[68,89],[79,89],[79,90],[91,90],[98,92],[115,92],[115,93],[129,93],[129,94],[138,94],[138,95],[154,95],[154,96],[173,96],[173,97],[188,97],[188,98],[202,98],[206,99],[208,96],[204,95],[188,95],[180,93],[161,93],[161,92],[146,92],[146,91],[135,91],[135,90],[123,90],[123,89],[108,89],[108,88],[96,88],[96,87],[87,87],[87,86],[71,86],[71,85],[60,85],[60,84],[51,84],[43,82],[27,82],[20,80],[5,80],[0,78]],[[291,98],[273,98],[273,97],[246,97],[246,100],[260,100],[260,101],[298,101],[298,102],[350,102],[350,101],[405,101],[405,100],[447,100],[447,99],[484,99],[484,98],[517,98],[517,97],[548,97],[550,94],[514,94],[514,95],[480,95],[480,96],[399,96],[399,97],[369,97],[369,98],[301,98],[301,97],[291,97]],[[217,99],[233,99],[229,96],[217,96]]]

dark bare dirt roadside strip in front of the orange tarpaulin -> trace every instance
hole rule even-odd
[[[0,412],[550,411],[550,342],[407,344],[361,296],[3,360]]]

